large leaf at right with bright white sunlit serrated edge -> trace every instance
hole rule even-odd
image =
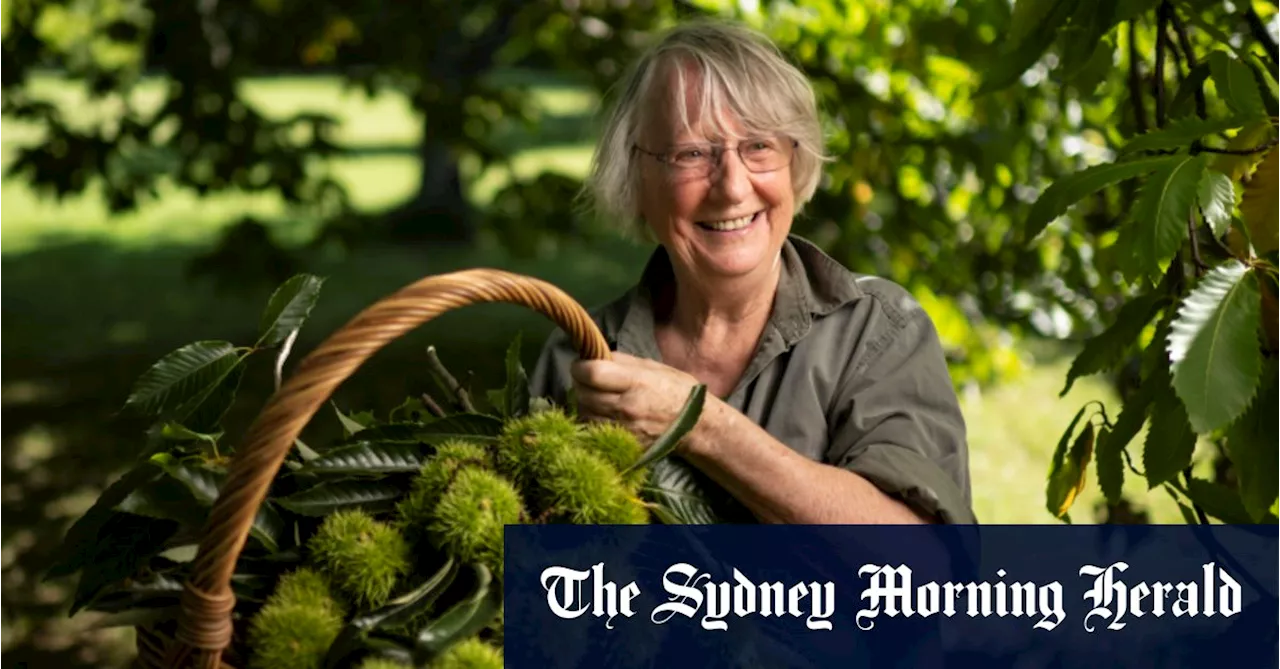
[[[1213,267],[1188,294],[1169,333],[1174,389],[1197,434],[1235,421],[1262,375],[1257,275],[1234,260]]]

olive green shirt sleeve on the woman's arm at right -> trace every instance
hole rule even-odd
[[[827,460],[927,517],[977,523],[964,416],[933,321],[909,298],[877,299],[865,331],[836,395]]]

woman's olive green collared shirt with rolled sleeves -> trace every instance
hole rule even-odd
[[[941,522],[975,523],[964,417],[933,321],[902,287],[854,274],[800,237],[781,261],[772,315],[724,402],[810,459]],[[673,276],[658,247],[637,285],[590,311],[612,350],[662,359],[653,298]],[[564,404],[577,357],[556,330],[530,375],[532,397]]]

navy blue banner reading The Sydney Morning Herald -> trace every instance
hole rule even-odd
[[[508,526],[507,666],[1280,668],[1276,526]]]

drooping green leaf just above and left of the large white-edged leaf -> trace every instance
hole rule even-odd
[[[1174,156],[1143,183],[1132,220],[1121,230],[1133,238],[1133,261],[1139,272],[1160,274],[1161,265],[1187,240],[1187,223],[1207,164],[1204,155]]]

